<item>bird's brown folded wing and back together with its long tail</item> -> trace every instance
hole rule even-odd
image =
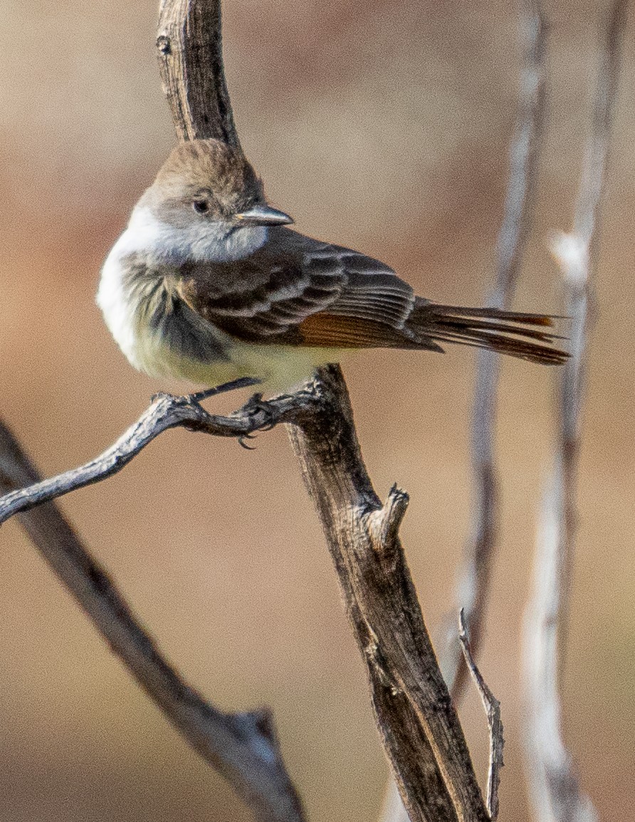
[[[551,318],[415,297],[388,266],[348,248],[272,230],[258,252],[231,263],[190,263],[177,292],[199,316],[257,344],[443,351],[460,343],[535,363],[563,363]]]

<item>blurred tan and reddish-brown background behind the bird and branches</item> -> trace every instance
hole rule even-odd
[[[558,312],[545,251],[567,229],[604,3],[547,2],[550,120],[516,304]],[[517,96],[514,2],[226,0],[237,126],[298,228],[388,261],[420,293],[481,302],[495,265]],[[152,0],[0,0],[2,415],[44,473],[107,446],[162,386],[94,305],[99,266],[173,143]],[[635,805],[633,21],[597,290],[564,728],[605,820]],[[381,495],[412,494],[404,542],[428,624],[452,603],[470,522],[474,357],[375,352],[345,366]],[[504,363],[503,531],[483,670],[503,703],[502,822],[527,822],[518,645],[554,373]],[[239,398],[214,407],[228,409]],[[313,822],[375,820],[387,775],[320,528],[285,433],[252,453],[163,435],[63,501],[162,648],[224,709],[273,706]],[[16,524],[0,552],[4,822],[248,820],[148,704]],[[483,774],[485,719],[462,708]]]

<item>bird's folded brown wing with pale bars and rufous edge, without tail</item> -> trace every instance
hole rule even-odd
[[[408,347],[404,326],[415,302],[384,263],[289,229],[273,230],[240,261],[188,263],[177,290],[238,339],[330,348]],[[412,344],[421,348],[421,340]]]

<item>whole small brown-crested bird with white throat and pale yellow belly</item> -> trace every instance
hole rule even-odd
[[[548,316],[438,305],[384,263],[286,228],[240,151],[178,145],[104,264],[97,302],[133,366],[288,388],[343,349],[462,343],[562,363]]]

